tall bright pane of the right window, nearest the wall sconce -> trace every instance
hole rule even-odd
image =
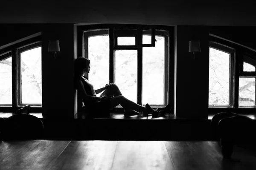
[[[229,105],[230,54],[209,48],[209,105]]]

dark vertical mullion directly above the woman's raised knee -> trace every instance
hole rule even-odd
[[[115,82],[115,63],[114,63],[114,48],[113,48],[114,40],[113,40],[113,28],[109,29],[109,82]]]

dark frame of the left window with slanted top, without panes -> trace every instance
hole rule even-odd
[[[22,108],[24,105],[18,104],[18,74],[20,74],[20,71],[18,71],[20,66],[18,65],[19,59],[18,59],[18,49],[25,47],[31,47],[28,45],[32,45],[35,43],[41,43],[41,35],[37,37],[30,38],[28,40],[24,40],[22,42],[17,42],[13,45],[9,45],[6,48],[3,48],[0,50],[0,54],[6,54],[11,53],[12,54],[12,105],[0,105],[0,112],[16,112],[18,109]],[[1,55],[3,56],[3,55]],[[3,57],[0,56],[0,59]],[[31,105],[30,108],[31,112],[34,113],[41,113],[42,112],[42,105]]]

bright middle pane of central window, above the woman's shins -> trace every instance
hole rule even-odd
[[[115,51],[115,83],[123,96],[137,103],[137,50]]]

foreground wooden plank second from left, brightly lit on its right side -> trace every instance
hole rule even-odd
[[[72,141],[51,170],[111,170],[116,141]]]

